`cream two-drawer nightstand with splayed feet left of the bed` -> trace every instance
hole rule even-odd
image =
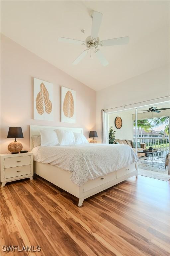
[[[1,154],[1,187],[25,178],[33,179],[33,153]]]

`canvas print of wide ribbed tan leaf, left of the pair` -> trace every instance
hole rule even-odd
[[[34,78],[34,119],[53,121],[53,84]]]

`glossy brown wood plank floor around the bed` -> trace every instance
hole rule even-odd
[[[138,176],[78,200],[39,176],[1,188],[1,255],[168,256],[169,182]],[[3,252],[3,245],[41,246]]]

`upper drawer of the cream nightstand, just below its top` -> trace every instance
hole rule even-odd
[[[5,158],[5,167],[15,167],[31,164],[31,156],[16,156],[16,157],[7,157]]]

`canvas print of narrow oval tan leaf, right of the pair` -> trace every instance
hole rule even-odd
[[[76,122],[76,92],[66,87],[61,87],[61,122]]]

